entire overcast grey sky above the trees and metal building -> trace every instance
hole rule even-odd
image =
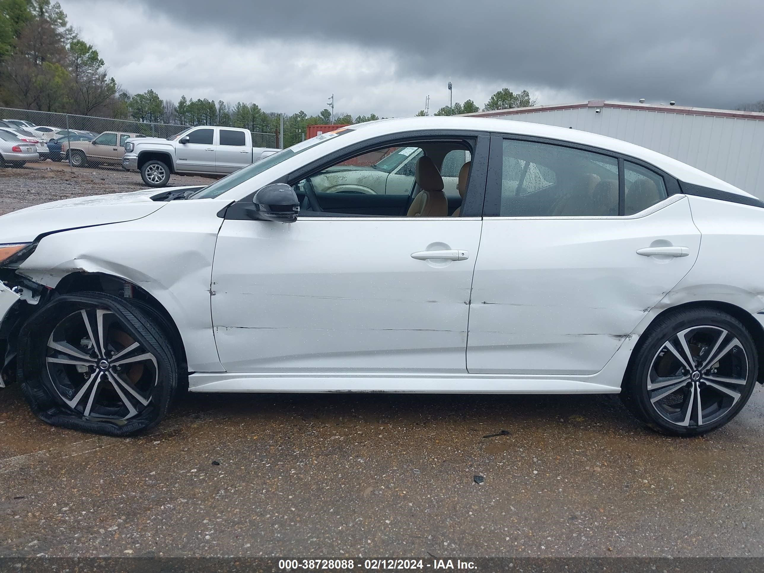
[[[764,99],[762,0],[60,0],[129,92],[266,111],[414,115],[616,99],[734,108]]]

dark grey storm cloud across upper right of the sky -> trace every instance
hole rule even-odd
[[[142,2],[149,12],[189,29],[212,25],[231,40],[392,50],[400,73],[418,79],[450,75],[714,107],[764,99],[760,0]]]

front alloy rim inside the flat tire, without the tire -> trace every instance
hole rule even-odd
[[[54,390],[89,419],[126,420],[150,403],[157,357],[125,329],[114,312],[82,309],[61,320],[47,342]]]

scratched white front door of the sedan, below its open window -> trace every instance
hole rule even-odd
[[[482,197],[485,170],[473,173],[468,197]],[[299,196],[305,183],[290,181]],[[306,199],[290,225],[223,222],[212,322],[226,371],[315,376],[306,390],[332,389],[332,373],[348,380],[335,390],[378,389],[371,373],[465,374],[480,217],[406,217],[402,195],[318,196],[345,216]],[[354,199],[363,216],[348,216]]]

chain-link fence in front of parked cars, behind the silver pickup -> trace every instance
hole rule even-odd
[[[18,138],[37,140],[40,161],[68,161],[70,147],[78,147],[76,142],[92,141],[99,134],[108,131],[117,134],[116,152],[119,157],[115,157],[112,163],[119,164],[121,156],[125,154],[125,141],[129,137],[170,138],[189,127],[192,126],[0,108],[0,130],[14,131]],[[257,131],[251,133],[253,147],[278,147],[276,134]],[[91,161],[88,161],[88,164],[89,167],[97,165]]]

